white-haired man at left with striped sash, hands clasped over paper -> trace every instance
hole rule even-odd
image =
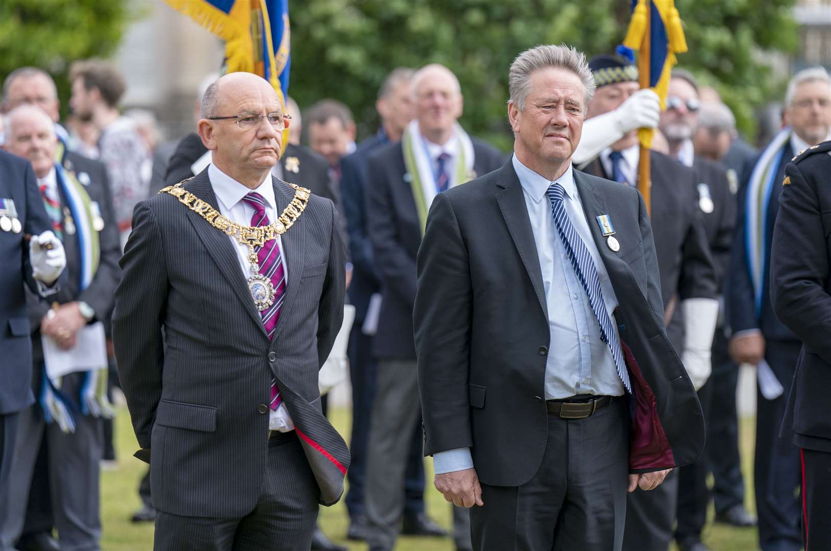
[[[61,285],[49,303],[28,296],[32,327],[32,391],[37,404],[20,412],[12,462],[9,494],[12,510],[2,527],[4,545],[13,545],[21,534],[27,511],[32,470],[42,440],[50,450],[48,479],[52,488],[52,517],[65,549],[96,549],[101,535],[98,514],[98,479],[101,461],[101,409],[108,405],[106,385],[96,387],[101,372],[66,373],[57,378],[44,364],[42,337],[54,339],[61,349],[72,349],[79,331],[87,324],[104,321],[112,307],[119,278],[120,246],[115,216],[106,190],[106,179],[81,183],[76,173],[56,162],[58,147],[54,123],[39,107],[22,105],[7,114],[4,147],[27,157],[41,189],[42,203],[52,231],[66,250],[66,285]],[[88,175],[87,175],[88,176]],[[101,365],[106,369],[106,349],[101,331]],[[95,354],[91,351],[91,358]],[[56,390],[59,388],[60,390]],[[48,404],[61,402],[65,411]],[[94,403],[95,407],[91,405]],[[72,461],[67,461],[71,457]]]

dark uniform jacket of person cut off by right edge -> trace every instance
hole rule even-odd
[[[831,453],[831,141],[789,163],[770,263],[776,315],[802,340],[782,436]]]

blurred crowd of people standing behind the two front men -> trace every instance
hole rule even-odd
[[[596,56],[590,66],[597,93],[574,167],[637,186],[637,129],[656,129],[649,153],[652,227],[665,322],[699,393],[707,429],[700,461],[676,469],[652,492],[629,496],[624,548],[667,549],[674,539],[683,551],[706,549],[702,530],[715,501],[716,522],[758,524],[762,549],[800,549],[799,451],[778,437],[800,344],[770,305],[770,241],[780,188],[770,183],[782,182],[794,155],[831,138],[829,75],[811,68],[792,77],[781,129],[757,150],[740,136],[718,93],[690,73],[673,72],[661,110],[654,93],[639,90],[632,61]],[[201,95],[216,78],[207,76],[198,90],[194,124]],[[28,319],[11,325],[12,335],[32,340],[27,383],[35,401],[7,393],[15,360],[6,358],[12,366],[0,371],[0,416],[18,418],[17,436],[6,439],[2,453],[2,469],[10,474],[0,487],[6,507],[0,507],[0,549],[99,547],[99,470],[117,459],[111,401],[118,373],[109,320],[133,208],[210,163],[198,134],[163,140],[150,111],[122,112],[125,80],[110,64],[77,63],[70,79],[64,120],[47,71],[22,67],[2,85],[2,149],[31,162],[52,231],[66,250],[71,283],[43,300],[27,290]],[[450,535],[425,507],[412,322],[416,252],[429,193],[509,162],[460,125],[465,91],[444,66],[396,68],[377,93],[377,132],[359,144],[347,105],[325,99],[301,110],[289,98],[291,134],[273,168],[276,177],[332,199],[341,215],[347,292],[356,308],[348,353],[347,538],[367,540],[372,549],[391,549],[398,534]],[[301,144],[302,129],[308,146]],[[701,267],[708,255],[715,271]],[[701,299],[707,285],[719,290],[717,304]],[[101,339],[91,332],[96,325]],[[86,354],[86,369],[50,368],[52,343]],[[742,475],[739,451],[741,363],[765,376],[752,480]],[[325,402],[323,407],[326,412]],[[749,484],[758,519],[745,509]],[[143,506],[133,520],[152,522],[149,475],[140,495]],[[470,549],[465,508],[453,506],[453,519],[456,549]],[[312,549],[345,548],[318,530]]]

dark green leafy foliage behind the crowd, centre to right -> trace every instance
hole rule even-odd
[[[690,46],[679,65],[715,85],[745,133],[755,129],[753,109],[781,90],[760,51],[796,45],[792,4],[677,2]],[[505,101],[514,57],[541,43],[570,44],[589,56],[613,51],[630,17],[625,0],[305,0],[290,9],[290,93],[300,105],[342,100],[366,136],[376,128],[376,90],[386,73],[437,61],[459,77],[465,128],[503,149],[512,143]]]

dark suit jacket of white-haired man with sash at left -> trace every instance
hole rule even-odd
[[[110,183],[107,178],[106,166],[104,163],[86,158],[79,154],[67,152],[64,156],[63,165],[66,170],[71,170],[79,176],[81,183],[89,182],[84,186],[90,200],[98,203],[101,218],[104,220],[104,229],[98,232],[99,263],[98,271],[86,290],[81,291],[81,254],[78,234],[63,234],[63,248],[66,251],[66,269],[64,274],[66,281],[61,289],[49,297],[49,300],[39,300],[36,295],[28,294],[29,323],[32,325],[32,350],[35,363],[43,360],[41,346],[40,324],[43,316],[49,310],[52,302],[65,304],[75,300],[83,300],[96,311],[96,317],[91,321],[104,322],[107,334],[111,333],[110,318],[115,303],[114,295],[116,286],[121,277],[121,270],[118,261],[121,257],[121,243],[116,223],[116,214],[112,207],[112,196]],[[87,178],[81,177],[86,173]],[[66,206],[66,196],[63,190],[58,187],[61,196],[61,210]],[[40,381],[35,377],[36,388]]]

